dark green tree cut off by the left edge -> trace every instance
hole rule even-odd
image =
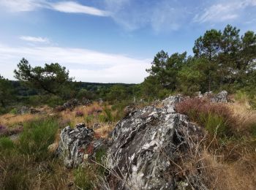
[[[12,83],[0,75],[0,104],[6,107],[15,99],[15,90]]]

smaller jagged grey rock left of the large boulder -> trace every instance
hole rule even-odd
[[[78,167],[83,163],[84,154],[89,151],[91,141],[94,139],[93,129],[87,128],[85,123],[79,123],[75,129],[66,126],[60,136],[57,155],[64,159],[67,168]]]

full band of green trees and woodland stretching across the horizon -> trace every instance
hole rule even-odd
[[[187,52],[154,56],[148,77],[140,84],[74,82],[69,71],[58,63],[32,67],[25,58],[15,69],[18,81],[0,75],[0,105],[49,104],[68,99],[104,99],[110,102],[151,101],[172,93],[192,95],[196,91],[243,92],[256,105],[256,34],[227,25],[211,29],[195,40],[194,56]]]

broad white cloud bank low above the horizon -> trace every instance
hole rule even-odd
[[[66,47],[9,47],[0,45],[1,75],[13,79],[13,70],[25,57],[32,66],[58,62],[75,80],[101,83],[140,83],[151,59]]]

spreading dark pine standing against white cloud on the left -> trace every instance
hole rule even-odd
[[[69,71],[58,63],[33,68],[29,61],[22,58],[14,72],[15,78],[47,94],[67,96],[65,91],[71,89],[72,77],[69,77]]]

